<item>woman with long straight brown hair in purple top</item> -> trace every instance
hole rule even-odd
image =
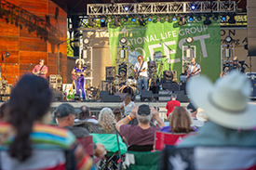
[[[169,117],[169,126],[164,126],[160,131],[170,133],[190,133],[197,129],[191,126],[192,121],[189,113],[182,107],[175,107]]]

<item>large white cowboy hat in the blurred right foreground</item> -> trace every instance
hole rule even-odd
[[[214,85],[204,75],[192,78],[187,85],[190,98],[206,111],[210,121],[232,129],[256,126],[256,105],[248,103],[250,89],[249,79],[236,71]]]

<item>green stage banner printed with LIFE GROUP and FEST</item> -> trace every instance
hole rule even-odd
[[[195,58],[197,63],[201,65],[202,73],[207,74],[215,81],[221,72],[221,35],[220,21],[213,21],[210,25],[204,25],[203,21],[194,21],[186,23],[183,26],[178,25],[178,22],[167,21],[152,21],[145,26],[140,26],[138,22],[123,22],[122,26],[116,27],[113,23],[108,24],[109,41],[111,48],[112,65],[116,65],[116,55],[119,58],[119,53],[116,50],[121,37],[126,37],[128,40],[129,52],[127,59],[132,65],[136,62],[137,56],[142,55],[144,61],[156,59],[159,66],[162,61],[163,69],[182,73],[182,60],[190,61],[191,58],[182,56],[182,46],[188,46],[185,39],[188,36],[194,38],[192,49],[195,50]],[[193,47],[195,46],[195,47]],[[185,48],[184,48],[185,49]],[[155,56],[156,58],[155,58]],[[157,56],[167,56],[159,59]]]

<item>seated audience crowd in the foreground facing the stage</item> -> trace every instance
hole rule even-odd
[[[93,159],[102,158],[107,149],[93,142],[94,156],[88,155],[78,139],[90,133],[118,134],[128,150],[135,151],[154,150],[156,131],[185,134],[177,148],[256,147],[256,105],[248,101],[250,82],[243,74],[232,72],[215,84],[197,76],[188,82],[187,93],[191,99],[187,107],[171,94],[168,123],[158,108],[136,106],[129,94],[120,108],[103,108],[98,119],[86,105],[77,115],[71,104],[63,103],[47,122],[52,99],[47,81],[24,75],[0,108],[0,145],[7,149],[0,155],[0,169],[93,169]],[[115,163],[118,159],[115,156]]]

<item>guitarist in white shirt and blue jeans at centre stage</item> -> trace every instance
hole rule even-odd
[[[138,78],[139,93],[141,94],[142,85],[144,85],[144,91],[148,89],[148,65],[143,61],[143,57],[140,55],[137,58],[137,63],[134,66],[135,78]]]

